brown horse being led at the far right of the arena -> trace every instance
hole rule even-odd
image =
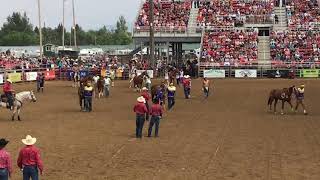
[[[270,95],[269,95],[269,100],[268,100],[268,105],[269,105],[270,111],[272,110],[272,107],[271,107],[272,103],[273,103],[273,101],[275,101],[274,102],[274,113],[277,112],[278,100],[282,101],[281,114],[283,114],[285,102],[288,102],[291,106],[291,110],[293,110],[293,106],[291,103],[291,96],[292,96],[292,93],[294,92],[294,90],[295,90],[295,86],[291,86],[289,88],[271,90]]]

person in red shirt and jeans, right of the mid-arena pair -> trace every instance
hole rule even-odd
[[[160,119],[162,118],[163,109],[157,100],[154,101],[154,104],[150,108],[149,114],[151,115],[151,120],[149,123],[148,137],[151,137],[152,128],[155,125],[155,137],[159,137],[159,126]]]

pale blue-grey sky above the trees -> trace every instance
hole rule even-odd
[[[72,0],[66,1],[66,28],[72,25]],[[42,21],[55,27],[62,22],[63,0],[41,0]],[[141,0],[75,0],[76,21],[84,29],[98,29],[103,25],[114,26],[120,15],[125,16],[131,27],[137,16]],[[38,24],[37,0],[1,0],[0,26],[12,12],[26,12],[32,24]]]

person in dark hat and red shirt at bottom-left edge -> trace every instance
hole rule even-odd
[[[6,139],[0,139],[0,180],[8,180],[12,174],[11,157],[4,149],[8,143]]]

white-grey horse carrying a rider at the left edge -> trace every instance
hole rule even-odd
[[[3,96],[1,96],[1,103],[0,106],[3,108],[7,108],[7,102],[2,99]],[[21,121],[20,118],[20,111],[22,106],[24,105],[24,101],[29,100],[31,102],[36,102],[37,98],[34,95],[33,91],[23,91],[20,93],[17,93],[14,98],[13,102],[13,112],[12,112],[12,117],[11,120],[15,120],[15,116],[18,115],[18,120]]]

